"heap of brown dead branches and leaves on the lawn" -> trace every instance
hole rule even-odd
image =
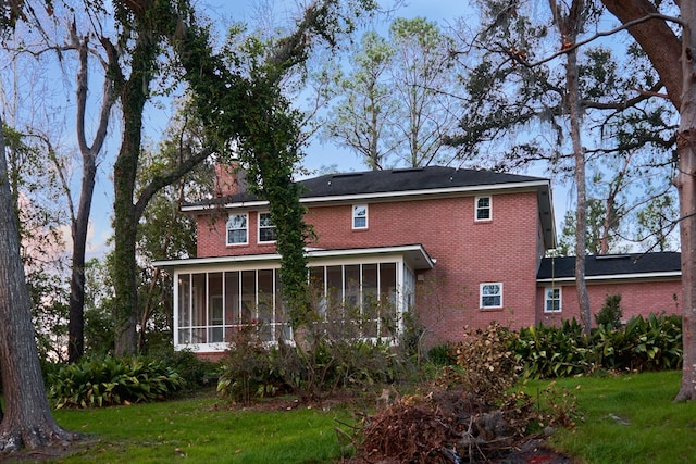
[[[573,427],[575,398],[549,386],[538,398],[510,389],[519,378],[507,331],[469,331],[458,366],[427,393],[397,396],[364,416],[358,455],[369,463],[489,462],[550,428]],[[383,394],[384,397],[384,394]]]

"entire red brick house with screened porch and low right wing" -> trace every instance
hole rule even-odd
[[[175,347],[209,355],[250,324],[264,341],[291,338],[268,202],[246,192],[229,168],[216,174],[216,198],[183,209],[197,220],[197,258],[156,263],[174,277]],[[548,179],[430,166],[301,184],[306,222],[316,235],[306,250],[318,310],[357,311],[365,338],[398,336],[407,312],[417,314],[430,344],[458,340],[467,325],[520,328],[577,315],[573,263],[544,258],[556,240]],[[674,274],[645,265],[652,256],[591,260],[588,272],[595,263],[601,277],[588,273],[594,312],[608,292],[655,297],[636,312],[669,311],[679,266]]]

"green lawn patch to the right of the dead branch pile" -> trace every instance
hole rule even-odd
[[[549,443],[583,464],[692,463],[696,456],[696,402],[672,402],[681,372],[557,381],[572,390],[584,414],[574,430]],[[548,381],[530,383],[530,391]],[[576,387],[580,386],[580,389]]]

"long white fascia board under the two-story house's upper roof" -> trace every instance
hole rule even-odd
[[[447,187],[447,188],[435,188],[435,189],[423,189],[423,190],[398,190],[398,191],[384,191],[384,192],[375,192],[375,193],[353,193],[353,195],[343,195],[343,196],[326,196],[326,197],[307,197],[300,198],[300,203],[330,203],[330,202],[355,202],[355,201],[364,201],[364,200],[394,200],[398,198],[413,198],[413,197],[443,197],[443,196],[455,196],[460,193],[474,193],[480,191],[506,191],[506,190],[536,190],[539,187],[547,187],[550,189],[549,180],[533,180],[526,183],[509,183],[509,184],[482,184],[477,186],[465,186],[465,187]],[[222,209],[241,209],[241,208],[260,208],[268,206],[268,201],[240,201],[236,203],[224,203],[222,205],[187,205],[182,206],[183,212],[197,212],[197,211],[208,211],[215,208]]]

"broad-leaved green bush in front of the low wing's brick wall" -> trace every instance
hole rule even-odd
[[[593,331],[594,353],[610,369],[661,371],[682,365],[682,321],[675,315],[632,317],[625,327]]]

